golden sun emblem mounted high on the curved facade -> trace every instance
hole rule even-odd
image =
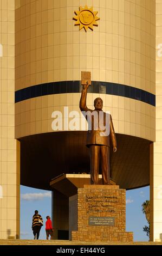
[[[73,20],[76,21],[75,26],[80,26],[79,29],[84,28],[87,32],[88,28],[93,31],[93,26],[98,26],[96,21],[100,20],[100,18],[96,16],[98,11],[93,11],[93,7],[88,8],[86,5],[85,8],[80,7],[79,11],[75,11],[74,13],[76,16],[73,17]]]

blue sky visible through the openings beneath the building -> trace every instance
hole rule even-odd
[[[149,186],[126,192],[126,231],[133,231],[134,241],[148,241],[143,231],[147,221],[141,205],[149,199]],[[46,222],[46,216],[51,216],[51,192],[21,186],[21,239],[33,239],[31,224],[35,210]],[[41,228],[40,239],[46,239],[45,223]]]

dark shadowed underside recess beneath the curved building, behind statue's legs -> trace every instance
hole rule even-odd
[[[118,151],[111,154],[111,178],[120,188],[149,185],[151,142],[121,134],[116,134],[116,138]],[[55,176],[89,173],[85,131],[49,132],[20,141],[21,184],[24,186],[51,190],[49,182]]]

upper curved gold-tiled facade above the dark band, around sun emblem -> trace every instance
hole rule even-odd
[[[16,9],[16,90],[35,84],[92,80],[155,93],[154,0],[30,0]],[[99,26],[74,26],[79,6],[98,11]]]

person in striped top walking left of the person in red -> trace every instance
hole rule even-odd
[[[43,225],[43,219],[40,214],[38,214],[38,211],[35,210],[35,214],[33,215],[33,222],[32,222],[32,230],[34,234],[34,239],[39,239],[40,236],[40,230]]]

